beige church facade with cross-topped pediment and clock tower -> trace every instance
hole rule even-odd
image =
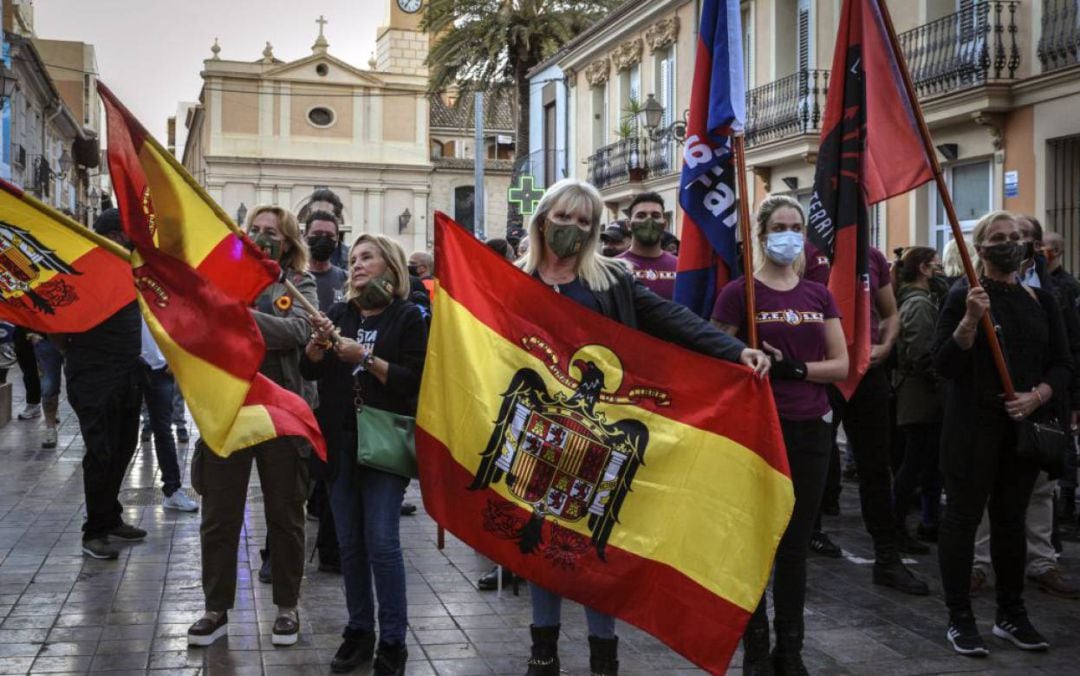
[[[390,25],[367,68],[335,57],[326,22],[318,23],[311,54],[297,60],[279,59],[270,43],[261,58],[226,59],[215,43],[199,103],[186,109],[186,134],[176,134],[186,136],[183,162],[234,216],[267,203],[299,212],[315,189],[329,188],[345,203],[347,241],[377,232],[407,252],[430,248],[433,212],[455,214],[454,190],[473,184],[473,167],[471,159],[441,166],[432,158],[428,37],[418,13],[390,1]],[[509,171],[494,178],[502,199],[489,204],[504,204]],[[504,228],[504,208],[501,221],[492,216]]]

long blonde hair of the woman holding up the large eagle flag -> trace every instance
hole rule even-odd
[[[514,265],[527,274],[535,273],[546,252],[540,228],[548,220],[548,214],[554,211],[577,211],[579,208],[589,209],[591,225],[589,240],[578,252],[575,272],[589,288],[604,292],[610,288],[619,275],[629,270],[629,267],[622,260],[604,258],[599,255],[600,215],[604,211],[604,202],[596,188],[577,178],[564,178],[544,192],[540,203],[537,204],[537,211],[529,220],[528,240],[535,244],[530,245],[529,251]]]

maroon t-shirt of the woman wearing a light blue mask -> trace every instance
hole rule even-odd
[[[761,341],[800,362],[825,359],[825,320],[837,319],[840,312],[824,285],[802,279],[791,290],[781,292],[755,280],[754,302]],[[746,340],[745,278],[720,290],[713,319],[738,326],[739,337]],[[773,380],[772,394],[777,413],[788,420],[813,420],[829,410],[826,386],[816,382]]]

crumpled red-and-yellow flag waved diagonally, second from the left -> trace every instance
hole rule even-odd
[[[278,436],[326,445],[308,404],[259,374],[266,353],[249,303],[278,266],[231,228],[168,152],[100,83],[109,174],[143,316],[206,445],[221,456]]]

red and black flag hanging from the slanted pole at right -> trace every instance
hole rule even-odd
[[[869,228],[866,207],[933,179],[879,0],[845,0],[833,55],[810,200],[810,242],[832,261],[851,369],[850,396],[869,365]]]

